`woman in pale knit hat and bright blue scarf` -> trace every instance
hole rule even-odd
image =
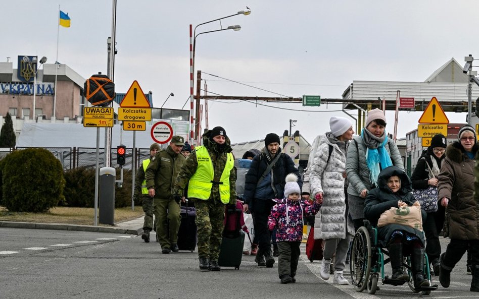
[[[386,116],[376,108],[367,113],[366,126],[349,145],[346,159],[349,213],[355,230],[363,225],[364,199],[377,187],[379,172],[391,165],[404,170],[401,153],[386,133]]]

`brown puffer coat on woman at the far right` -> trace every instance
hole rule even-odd
[[[475,155],[479,146],[474,144]],[[449,144],[446,158],[438,175],[439,200],[443,197],[450,201],[446,207],[444,235],[451,239],[479,239],[479,202],[474,199],[474,164],[459,142]]]

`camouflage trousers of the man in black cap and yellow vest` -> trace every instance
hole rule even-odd
[[[209,200],[195,200],[198,226],[198,256],[218,260],[223,232],[224,204]]]

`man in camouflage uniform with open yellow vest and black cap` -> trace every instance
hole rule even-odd
[[[236,204],[234,157],[226,131],[215,127],[203,134],[176,178],[174,197],[180,198],[189,181],[188,198],[196,207],[200,270],[220,271],[218,256],[225,204]]]

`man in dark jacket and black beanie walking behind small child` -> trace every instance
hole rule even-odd
[[[279,136],[269,133],[264,139],[265,147],[253,158],[246,174],[244,210],[251,210],[255,223],[255,233],[259,237],[259,250],[255,258],[258,266],[273,267],[271,235],[268,229],[268,216],[274,206],[274,198],[282,198],[286,175],[294,173],[301,177],[290,156],[281,153]],[[303,186],[301,178],[298,180]],[[266,261],[265,261],[266,259]]]

